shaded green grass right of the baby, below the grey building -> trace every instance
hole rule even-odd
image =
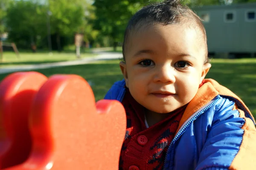
[[[238,95],[256,118],[256,58],[213,59],[207,78]]]

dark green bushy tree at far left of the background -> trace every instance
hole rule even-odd
[[[36,44],[38,37],[47,33],[45,6],[29,0],[19,0],[10,3],[6,11],[6,27],[9,40],[20,47],[28,48]]]

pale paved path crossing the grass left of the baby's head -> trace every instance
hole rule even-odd
[[[77,59],[73,61],[52,62],[52,63],[34,64],[34,65],[20,65],[15,67],[0,68],[0,74],[12,73],[16,71],[30,71],[30,70],[44,69],[44,68],[63,67],[63,66],[69,66],[69,65],[83,65],[83,64],[88,64],[95,61],[100,61],[100,60],[122,58],[122,53],[116,53],[116,52],[99,51],[99,52],[95,52],[95,54],[98,54],[98,55],[94,57],[85,57],[85,58]]]

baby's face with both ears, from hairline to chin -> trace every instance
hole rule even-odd
[[[211,65],[201,32],[186,24],[141,28],[128,40],[120,68],[134,99],[169,113],[189,103]]]

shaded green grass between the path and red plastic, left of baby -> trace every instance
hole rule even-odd
[[[47,77],[53,74],[77,74],[92,82],[96,100],[102,99],[113,82],[122,79],[118,60],[101,61],[93,64],[75,65],[36,70]],[[0,80],[8,74],[0,74]]]

